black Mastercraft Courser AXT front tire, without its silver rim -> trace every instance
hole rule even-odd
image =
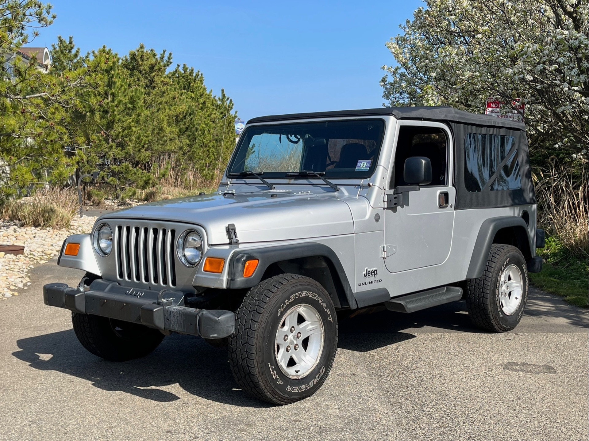
[[[289,309],[312,306],[323,323],[323,350],[306,376],[292,379],[279,369],[276,333]],[[297,274],[263,280],[244,297],[229,339],[231,372],[241,389],[273,404],[289,404],[315,393],[325,382],[337,350],[337,317],[321,284]]]

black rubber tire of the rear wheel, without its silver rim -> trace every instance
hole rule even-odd
[[[499,283],[505,267],[515,264],[522,274],[521,303],[511,315],[505,314],[499,304]],[[524,256],[511,245],[493,244],[487,265],[481,277],[466,280],[466,306],[472,323],[494,332],[514,329],[524,315],[528,300],[528,268]]]

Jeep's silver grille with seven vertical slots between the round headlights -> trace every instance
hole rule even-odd
[[[176,230],[117,225],[114,250],[121,280],[176,287]]]

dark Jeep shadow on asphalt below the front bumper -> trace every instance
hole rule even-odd
[[[13,355],[39,370],[54,370],[92,383],[102,390],[120,391],[155,402],[180,399],[160,389],[178,383],[186,392],[215,402],[246,407],[271,407],[237,389],[227,350],[192,336],[173,334],[147,357],[107,362],[87,352],[74,330],[59,331],[16,342]]]

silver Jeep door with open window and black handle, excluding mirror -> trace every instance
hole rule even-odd
[[[405,160],[413,156],[429,158],[432,182],[405,193],[398,207],[385,208],[385,266],[391,273],[438,265],[448,258],[456,199],[452,152],[446,125],[398,121],[387,193],[408,185],[403,180],[403,167]]]

